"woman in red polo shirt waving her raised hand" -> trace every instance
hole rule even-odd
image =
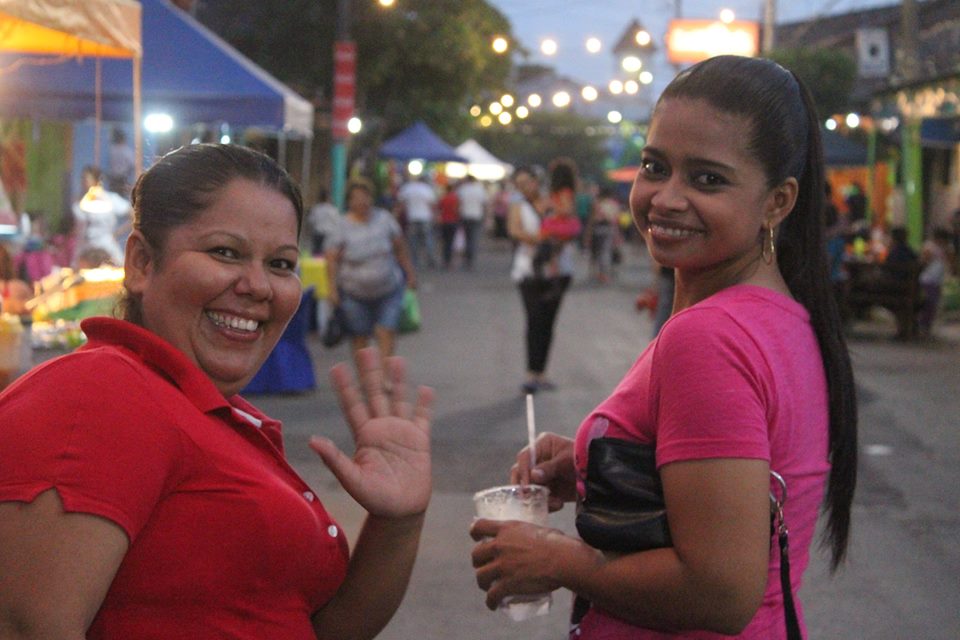
[[[86,320],[86,345],[0,395],[0,636],[374,637],[430,496],[432,393],[407,402],[403,362],[369,350],[359,385],[332,372],[356,453],[311,446],[369,512],[351,557],[280,424],[237,395],[300,299],[298,188],[194,145],[133,203],[123,320]]]

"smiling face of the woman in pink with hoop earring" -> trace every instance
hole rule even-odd
[[[761,240],[792,208],[796,181],[768,187],[747,149],[752,133],[749,120],[703,100],[658,106],[630,193],[633,219],[658,263],[730,284],[762,262]]]

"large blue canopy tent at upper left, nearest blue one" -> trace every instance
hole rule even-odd
[[[167,0],[142,0],[143,112],[312,136],[313,106]],[[129,60],[0,56],[0,117],[130,121]],[[98,71],[99,68],[99,71]],[[99,76],[99,77],[98,77]]]

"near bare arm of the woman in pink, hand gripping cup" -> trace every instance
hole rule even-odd
[[[566,587],[638,626],[740,632],[767,584],[768,465],[744,459],[661,469],[674,546],[604,555],[559,531],[478,521],[477,581],[487,606],[506,595]]]

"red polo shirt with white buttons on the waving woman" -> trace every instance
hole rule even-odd
[[[0,501],[55,488],[127,533],[87,637],[312,640],[347,542],[287,464],[280,423],[153,333],[83,330],[0,395]]]

